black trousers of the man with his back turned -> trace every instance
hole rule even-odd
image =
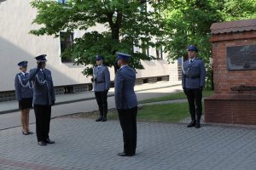
[[[123,130],[124,152],[134,155],[137,148],[137,107],[118,109],[118,113]]]

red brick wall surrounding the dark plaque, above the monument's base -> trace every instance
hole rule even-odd
[[[241,84],[256,86],[256,70],[228,71],[226,58],[227,47],[255,45],[256,31],[212,35],[211,41],[215,94],[236,94],[236,91],[231,91],[230,88]],[[243,94],[252,93],[256,94],[256,91],[244,92]]]

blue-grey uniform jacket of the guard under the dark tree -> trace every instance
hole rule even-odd
[[[94,91],[102,92],[104,90],[109,90],[110,87],[110,75],[108,71],[108,67],[105,65],[96,66],[93,69],[94,78],[96,78],[96,82],[94,82]]]

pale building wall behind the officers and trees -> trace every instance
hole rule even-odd
[[[21,60],[28,61],[28,70],[36,66],[34,57],[47,54],[47,68],[52,71],[55,86],[80,84],[90,82],[81,73],[83,65],[61,63],[60,39],[52,36],[33,36],[28,32],[36,25],[32,20],[37,11],[30,6],[30,0],[7,0],[0,4],[0,91],[14,90],[15,74],[19,72],[17,63]],[[97,31],[102,31],[102,26],[97,26]],[[82,36],[84,32],[76,31],[75,36]],[[137,71],[138,77],[157,77],[171,75],[172,68],[165,60],[143,61],[145,70]],[[113,68],[111,79],[114,78]],[[177,80],[177,78],[174,78]]]

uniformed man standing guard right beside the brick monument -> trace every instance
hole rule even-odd
[[[189,59],[183,63],[182,85],[189,101],[191,122],[187,127],[201,127],[202,90],[206,81],[205,63],[197,57],[198,49],[195,45],[187,48]]]

